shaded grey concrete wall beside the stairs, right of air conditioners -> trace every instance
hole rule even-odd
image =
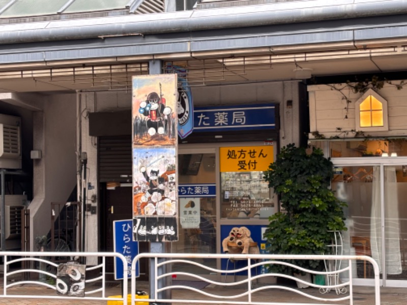
[[[43,105],[33,114],[33,149],[42,159],[33,164],[32,250],[51,227],[51,202],[66,202],[76,184],[76,95],[47,96]]]

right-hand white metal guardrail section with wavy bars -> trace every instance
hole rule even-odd
[[[144,299],[144,301],[150,302],[157,302],[157,303],[193,303],[193,304],[267,304],[267,305],[279,305],[279,304],[303,304],[298,302],[298,299],[295,303],[293,302],[282,302],[281,300],[276,299],[275,294],[273,294],[273,289],[280,289],[295,293],[299,296],[299,299],[302,298],[309,298],[314,300],[314,303],[307,303],[310,304],[322,304],[322,303],[330,303],[330,304],[343,304],[343,301],[348,302],[349,304],[353,304],[354,297],[353,297],[353,270],[352,270],[352,261],[361,260],[367,261],[372,264],[373,271],[374,271],[374,291],[375,291],[375,298],[374,304],[380,305],[380,278],[379,278],[379,266],[377,263],[368,256],[334,256],[334,255],[253,255],[253,254],[239,254],[239,255],[231,255],[231,254],[157,254],[157,253],[142,253],[137,255],[131,267],[132,278],[131,278],[131,295],[132,295],[132,305],[134,305],[134,295],[137,287],[137,280],[135,278],[135,266],[136,262],[141,258],[149,258],[150,264],[153,265],[154,275],[150,275],[153,277],[154,282],[152,283],[152,287],[150,288],[151,294],[149,299]],[[232,260],[245,260],[246,266],[241,267],[239,269],[229,269],[229,270],[221,270],[214,267],[209,266],[209,263],[201,262],[202,260],[210,260],[210,259],[232,259]],[[288,263],[287,261],[292,260],[325,260],[327,264],[334,262],[334,265],[338,266],[334,268],[332,271],[313,271],[307,270],[300,267],[297,267],[293,264]],[[282,275],[280,273],[263,273],[263,274],[255,274],[253,275],[253,268],[259,268],[261,266],[269,265],[269,264],[280,264],[286,265],[290,267],[297,268],[298,270],[310,272],[314,275],[324,275],[328,281],[328,285],[317,285],[312,283],[307,283],[303,280],[299,280],[297,278]],[[343,266],[343,267],[341,267]],[[234,282],[227,282],[224,280],[209,280],[205,277],[199,276],[194,274],[194,268],[200,268],[201,270],[206,270],[208,273],[217,274],[217,275],[224,275],[226,277],[227,274],[245,271],[247,275],[240,277],[239,280]],[[167,271],[169,270],[169,271]],[[180,270],[180,271],[171,271],[171,270]],[[341,273],[346,272],[347,278],[346,280],[339,280]],[[176,281],[171,283],[172,278],[183,276],[186,277],[188,280],[183,285],[178,285]],[[274,277],[282,277],[286,279],[292,279],[303,284],[308,284],[311,287],[319,288],[321,293],[317,295],[308,293],[306,290],[298,290],[291,287],[285,287],[283,285],[276,285],[270,284],[275,283],[271,278]],[[188,281],[203,281],[210,284],[214,288],[219,289],[199,289],[192,287]],[[258,281],[262,281],[263,285],[256,285],[255,287],[253,284],[257,283]],[[269,284],[267,284],[269,283]],[[236,288],[237,289],[230,289]],[[183,295],[182,293],[174,293],[170,298],[168,295],[171,292],[175,292],[175,290],[184,290],[188,291],[184,295],[188,295],[188,297],[179,296]],[[330,290],[335,291],[336,293],[326,293]],[[238,291],[238,293],[236,293]],[[191,297],[191,292],[193,292],[193,297]],[[261,297],[263,294],[263,297]],[[333,295],[333,296],[332,296]]]

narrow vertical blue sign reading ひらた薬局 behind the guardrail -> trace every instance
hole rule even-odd
[[[129,273],[126,278],[131,277],[130,269],[133,258],[138,254],[138,242],[132,238],[132,220],[113,221],[113,248],[114,252],[123,254],[127,260]],[[136,264],[136,277],[139,276],[139,265]],[[123,280],[123,262],[120,258],[114,258],[114,279]]]

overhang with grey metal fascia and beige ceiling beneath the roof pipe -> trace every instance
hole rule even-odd
[[[404,15],[155,35],[103,30],[89,39],[2,45],[0,93],[130,90],[131,77],[148,74],[156,59],[187,68],[190,86],[407,71]]]

